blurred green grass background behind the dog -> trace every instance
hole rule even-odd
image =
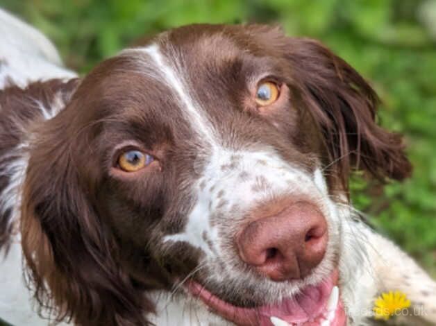
[[[371,80],[381,123],[404,132],[414,176],[383,188],[355,178],[355,205],[436,275],[435,0],[0,0],[86,73],[144,35],[194,22],[279,23],[315,37]]]

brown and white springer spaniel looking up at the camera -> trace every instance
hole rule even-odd
[[[410,175],[401,137],[325,46],[185,26],[77,78],[2,11],[0,31],[3,320],[367,325],[398,290],[391,320],[436,323],[436,283],[348,196],[352,170]]]

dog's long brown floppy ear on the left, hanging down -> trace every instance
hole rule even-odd
[[[83,147],[71,137],[67,115],[75,112],[67,106],[45,121],[31,144],[21,220],[28,282],[40,313],[56,320],[148,325],[143,313],[153,307],[117,264],[117,244],[94,210],[90,179],[79,173]]]

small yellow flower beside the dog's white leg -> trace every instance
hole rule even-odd
[[[410,300],[401,291],[382,293],[374,302],[374,316],[376,319],[388,320],[401,309],[410,307]]]

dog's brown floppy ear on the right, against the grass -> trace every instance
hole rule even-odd
[[[328,161],[348,189],[351,169],[378,180],[411,173],[401,135],[376,124],[378,96],[344,60],[315,40],[290,38],[287,59],[303,103],[321,129]]]

